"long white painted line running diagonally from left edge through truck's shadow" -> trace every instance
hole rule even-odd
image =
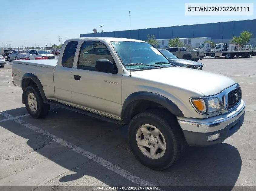
[[[13,118],[12,115],[9,115],[8,113],[5,113],[5,112],[1,112],[0,114],[9,118],[9,119]],[[36,127],[36,126],[34,126],[30,123],[26,123],[25,121],[22,121],[21,119],[14,119],[14,121],[16,123],[19,123],[19,124],[29,128],[29,129],[35,131],[35,132],[41,134],[41,135],[45,135],[45,136],[48,136],[48,137],[52,138],[53,141],[58,142],[59,144],[65,146],[67,148],[70,148],[70,149],[72,149],[73,151],[75,151],[77,153],[80,153],[81,155],[91,159],[92,161],[97,162],[98,164],[108,168],[109,170],[119,174],[120,176],[130,180],[131,182],[133,182],[135,184],[138,184],[139,186],[157,186],[157,185],[149,183],[149,182],[147,182],[147,181],[129,173],[128,171],[116,166],[115,164],[112,164],[111,162],[109,162],[109,161],[107,161],[107,160],[89,152],[89,151],[86,151],[86,150],[84,150],[84,149],[82,149],[82,148],[80,148],[80,147],[78,147],[78,146],[76,146],[76,145],[74,145],[70,142],[67,142],[67,141],[63,140],[62,138],[58,138],[55,135],[53,135],[49,132],[46,132],[46,131],[44,131],[44,130],[42,130],[42,129],[40,129],[40,128],[38,128],[38,127]]]

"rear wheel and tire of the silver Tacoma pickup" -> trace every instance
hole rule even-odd
[[[25,106],[28,113],[35,119],[48,115],[50,105],[44,103],[42,96],[35,86],[28,86],[25,89]]]

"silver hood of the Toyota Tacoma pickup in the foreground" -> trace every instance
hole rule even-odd
[[[138,78],[147,79],[153,83],[167,84],[187,90],[197,90],[204,96],[218,94],[236,83],[233,79],[223,75],[176,66],[135,71],[134,73]]]

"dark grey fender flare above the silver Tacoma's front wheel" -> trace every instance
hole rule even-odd
[[[141,91],[141,92],[132,93],[125,99],[125,102],[121,109],[121,120],[124,123],[128,123],[129,121],[129,115],[131,115],[131,110],[134,107],[134,104],[132,103],[135,103],[135,101],[138,101],[138,100],[147,100],[147,101],[158,103],[164,106],[173,115],[182,116],[182,117],[184,116],[184,114],[179,109],[179,107],[168,98],[156,93]]]

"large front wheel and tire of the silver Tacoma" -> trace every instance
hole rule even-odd
[[[157,110],[137,114],[128,128],[131,150],[141,164],[153,170],[165,170],[185,151],[185,138],[177,119]]]

